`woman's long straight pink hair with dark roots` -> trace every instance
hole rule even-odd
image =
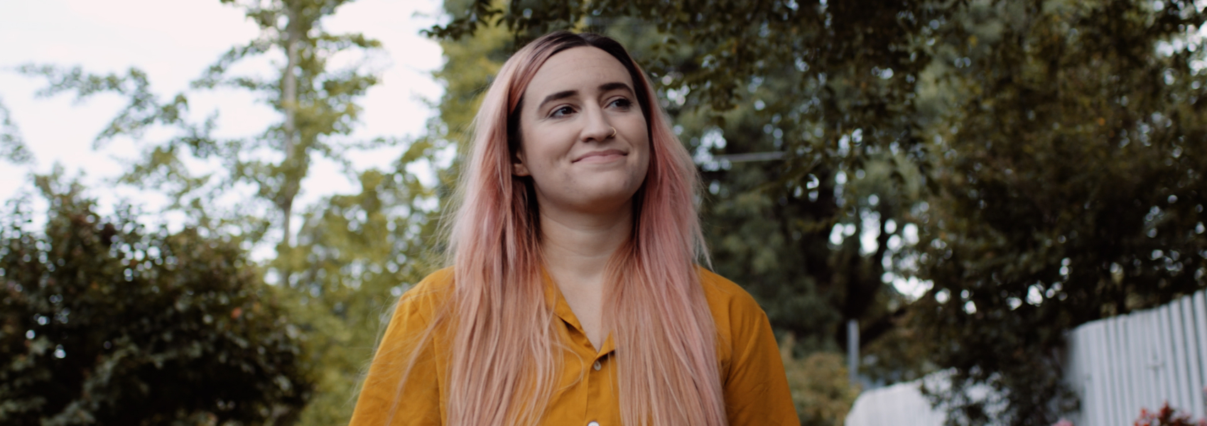
[[[533,425],[560,379],[562,350],[542,275],[532,181],[512,175],[521,95],[549,57],[600,48],[624,65],[649,128],[651,164],[635,196],[634,230],[610,262],[604,326],[616,343],[624,422],[725,425],[716,325],[695,261],[705,256],[694,205],[699,175],[649,81],[612,39],[565,31],[507,60],[474,118],[449,232],[455,290],[448,424]]]

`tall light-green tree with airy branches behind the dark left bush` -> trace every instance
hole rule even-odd
[[[315,398],[301,414],[304,425],[346,421],[346,403],[365,362],[372,357],[381,315],[391,293],[416,282],[431,269],[421,229],[435,194],[407,173],[413,162],[430,161],[428,140],[379,138],[351,140],[358,101],[377,83],[371,71],[354,65],[336,69],[337,54],[373,54],[379,47],[361,34],[331,34],[322,19],[348,0],[223,0],[240,7],[261,35],[218,58],[188,92],[162,98],[139,70],[93,75],[82,68],[22,68],[46,78],[42,95],[74,93],[78,98],[117,93],[128,105],[97,139],[133,138],[146,146],[122,183],[167,192],[173,209],[186,212],[199,228],[251,245],[275,244],[276,257],[264,268],[266,280],[290,291],[279,296],[309,338],[305,366],[315,374]],[[253,58],[280,54],[279,74],[262,78],[235,75],[232,68]],[[189,97],[218,87],[256,93],[280,112],[262,134],[220,139],[212,135],[216,115],[189,118]],[[175,136],[145,141],[151,128],[170,128]],[[355,150],[410,142],[392,170],[355,170],[345,154]],[[344,164],[362,185],[360,194],[330,197],[315,206],[296,204],[301,182],[316,156]],[[211,162],[216,170],[191,164]],[[251,187],[247,193],[241,188]],[[235,205],[215,202],[232,193]],[[302,220],[302,223],[297,223]],[[276,234],[279,233],[279,234]],[[280,237],[276,237],[280,235]],[[397,294],[393,294],[397,296]]]

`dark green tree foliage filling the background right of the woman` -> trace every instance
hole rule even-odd
[[[1191,2],[455,4],[445,42],[622,39],[704,170],[717,270],[806,351],[858,319],[864,373],[954,367],[952,421],[1050,425],[1065,331],[1207,282]],[[885,285],[911,275],[920,300]]]

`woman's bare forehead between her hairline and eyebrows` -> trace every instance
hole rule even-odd
[[[632,76],[612,54],[597,47],[573,47],[549,57],[532,76],[525,98],[565,91],[594,92],[611,83],[632,89]],[[532,99],[538,101],[537,99]]]

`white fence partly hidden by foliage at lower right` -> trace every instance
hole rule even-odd
[[[1207,416],[1207,292],[1156,309],[1081,325],[1069,333],[1066,380],[1081,399],[1078,426],[1126,426],[1141,408],[1166,401]],[[937,380],[939,375],[923,380]],[[945,416],[919,391],[921,381],[859,395],[846,426],[941,426]],[[906,420],[908,419],[908,420]],[[905,420],[905,422],[902,422]]]

